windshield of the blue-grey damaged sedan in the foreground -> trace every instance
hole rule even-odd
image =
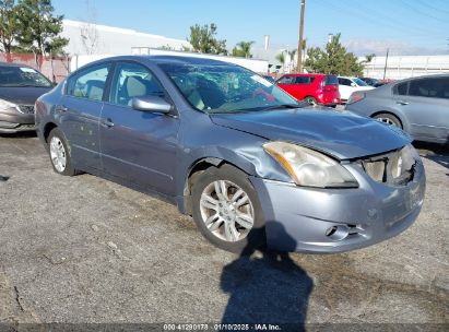
[[[238,66],[163,63],[161,68],[192,107],[208,114],[300,107],[276,85]]]

